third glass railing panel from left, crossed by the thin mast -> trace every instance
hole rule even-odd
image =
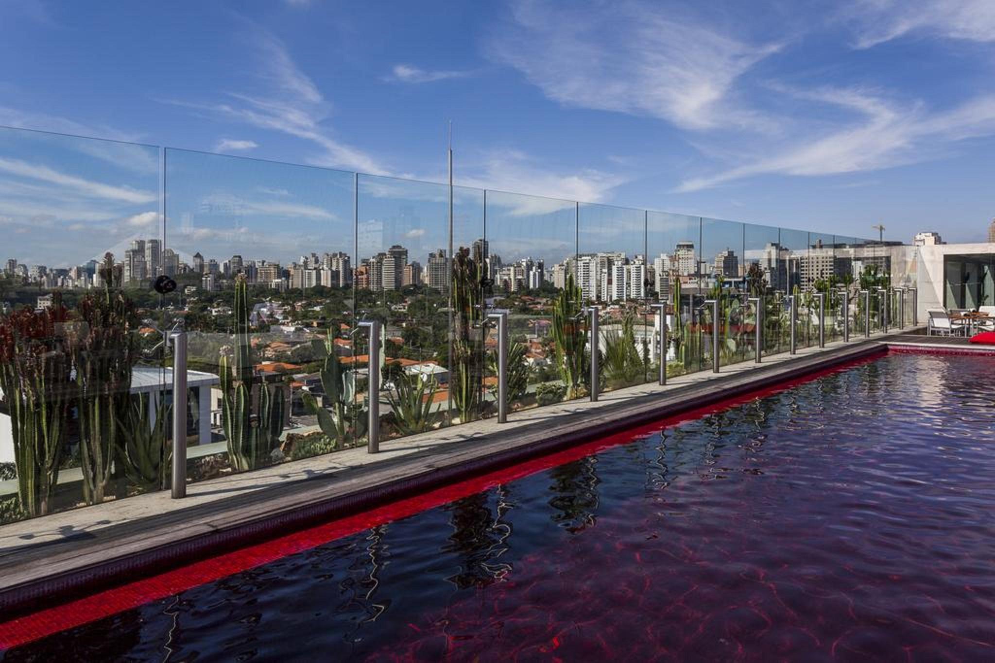
[[[481,415],[483,267],[471,245],[483,237],[482,205],[454,190],[451,232],[449,187],[359,176],[357,318],[382,328],[380,366],[371,365],[366,332],[355,337],[357,399],[379,403],[381,441]]]

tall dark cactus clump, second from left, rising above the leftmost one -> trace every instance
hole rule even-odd
[[[77,305],[82,324],[74,339],[80,461],[83,496],[88,504],[103,501],[120,446],[118,419],[126,412],[131,372],[138,359],[134,304],[120,291],[120,268],[107,253],[101,268],[104,288]]]

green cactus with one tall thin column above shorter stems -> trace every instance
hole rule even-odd
[[[248,291],[245,274],[239,274],[235,277],[233,359],[230,363],[222,355],[219,363],[228,457],[232,467],[239,471],[255,469],[270,460],[280,445],[287,410],[284,388],[256,379],[249,335]]]

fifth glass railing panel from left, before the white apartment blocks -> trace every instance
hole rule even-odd
[[[585,302],[600,308],[601,388],[642,384],[650,374],[654,316],[646,261],[647,213],[581,204],[578,272]]]

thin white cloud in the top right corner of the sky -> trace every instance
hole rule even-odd
[[[861,0],[848,10],[854,46],[868,49],[906,35],[995,41],[992,0]]]

